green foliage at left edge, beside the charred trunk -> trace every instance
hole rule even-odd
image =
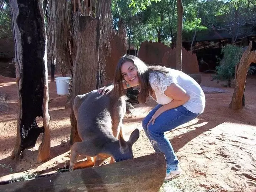
[[[0,9],[0,38],[12,36],[12,22],[10,8]]]

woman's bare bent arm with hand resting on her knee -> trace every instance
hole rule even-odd
[[[150,119],[148,125],[152,122],[154,124],[155,119],[163,112],[173,109],[175,107],[181,106],[184,103],[186,103],[188,100],[190,100],[190,96],[186,93],[186,91],[176,84],[171,84],[167,87],[164,94],[170,98],[172,98],[172,101],[170,103],[167,103],[166,105],[161,106],[155,114]]]

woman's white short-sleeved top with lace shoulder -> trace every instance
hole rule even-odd
[[[149,83],[155,92],[156,100],[152,98],[161,105],[170,103],[172,98],[166,96],[164,91],[174,83],[182,87],[190,96],[190,100],[184,103],[183,106],[193,113],[202,113],[205,106],[205,96],[200,85],[189,75],[181,71],[170,68],[166,69],[169,71],[166,75],[160,72],[149,73]]]

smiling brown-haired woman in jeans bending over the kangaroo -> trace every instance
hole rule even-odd
[[[114,91],[122,96],[128,87],[140,87],[140,102],[149,95],[158,103],[143,119],[142,127],[156,152],[165,154],[166,180],[178,177],[181,168],[174,149],[164,133],[190,122],[204,111],[205,97],[200,85],[181,71],[162,66],[147,66],[133,55],[118,62],[114,87],[102,87],[98,93]]]

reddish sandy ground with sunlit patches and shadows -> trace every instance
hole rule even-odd
[[[69,162],[70,109],[65,109],[66,96],[57,95],[55,82],[49,80],[51,158],[37,164],[38,146],[22,153],[19,164],[10,159],[16,142],[17,86],[16,79],[0,76],[0,90],[9,96],[9,110],[0,112],[0,166],[1,179],[22,171],[46,173]],[[218,87],[229,93],[206,94],[206,109],[192,122],[184,124],[166,135],[170,139],[183,169],[181,179],[186,179],[202,191],[255,191],[256,190],[256,78],[247,79],[245,108],[233,111],[228,108],[234,88],[223,88],[211,81],[210,74],[202,74],[202,85]],[[149,99],[135,106],[133,114],[124,118],[124,132],[141,127],[141,121],[156,105]],[[42,119],[37,119],[39,127]],[[133,146],[134,157],[154,153],[143,131]]]

